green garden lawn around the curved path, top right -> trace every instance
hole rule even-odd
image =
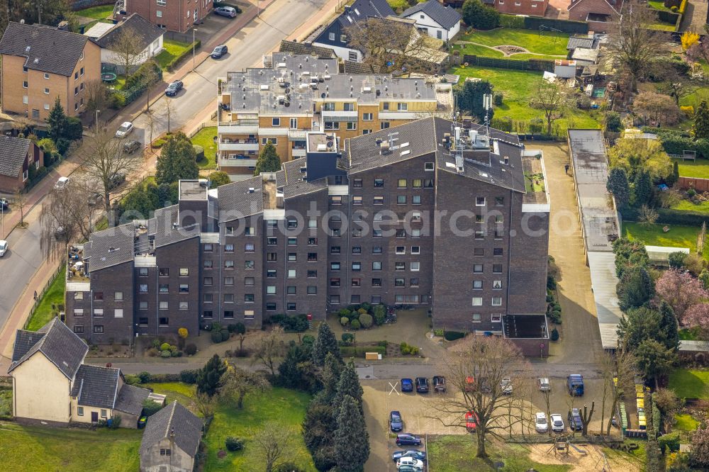
[[[520,46],[529,52],[566,57],[566,43],[569,41],[569,36],[569,33],[545,32],[540,35],[538,31],[533,30],[497,28],[488,31],[474,31],[473,33],[462,35],[460,39],[487,46]]]

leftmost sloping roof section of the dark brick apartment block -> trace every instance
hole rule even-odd
[[[89,271],[132,261],[134,237],[133,223],[109,227],[91,234],[91,239],[84,245],[84,260],[89,261]]]

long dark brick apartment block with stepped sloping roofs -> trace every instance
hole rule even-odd
[[[543,185],[540,152],[435,117],[351,137],[344,151],[333,131],[305,139],[306,156],[279,172],[216,190],[181,181],[177,205],[74,248],[68,325],[106,343],[402,304],[539,354],[549,201],[525,179]]]

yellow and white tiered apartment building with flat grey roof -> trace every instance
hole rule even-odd
[[[272,142],[281,162],[306,155],[308,131],[350,137],[425,116],[452,116],[450,84],[391,74],[343,74],[337,59],[274,52],[267,67],[230,72],[218,113],[218,165],[231,179],[253,175]]]

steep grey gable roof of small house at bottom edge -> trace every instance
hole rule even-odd
[[[147,419],[140,454],[145,454],[156,442],[173,436],[175,444],[194,457],[202,437],[202,427],[202,420],[175,400]]]

